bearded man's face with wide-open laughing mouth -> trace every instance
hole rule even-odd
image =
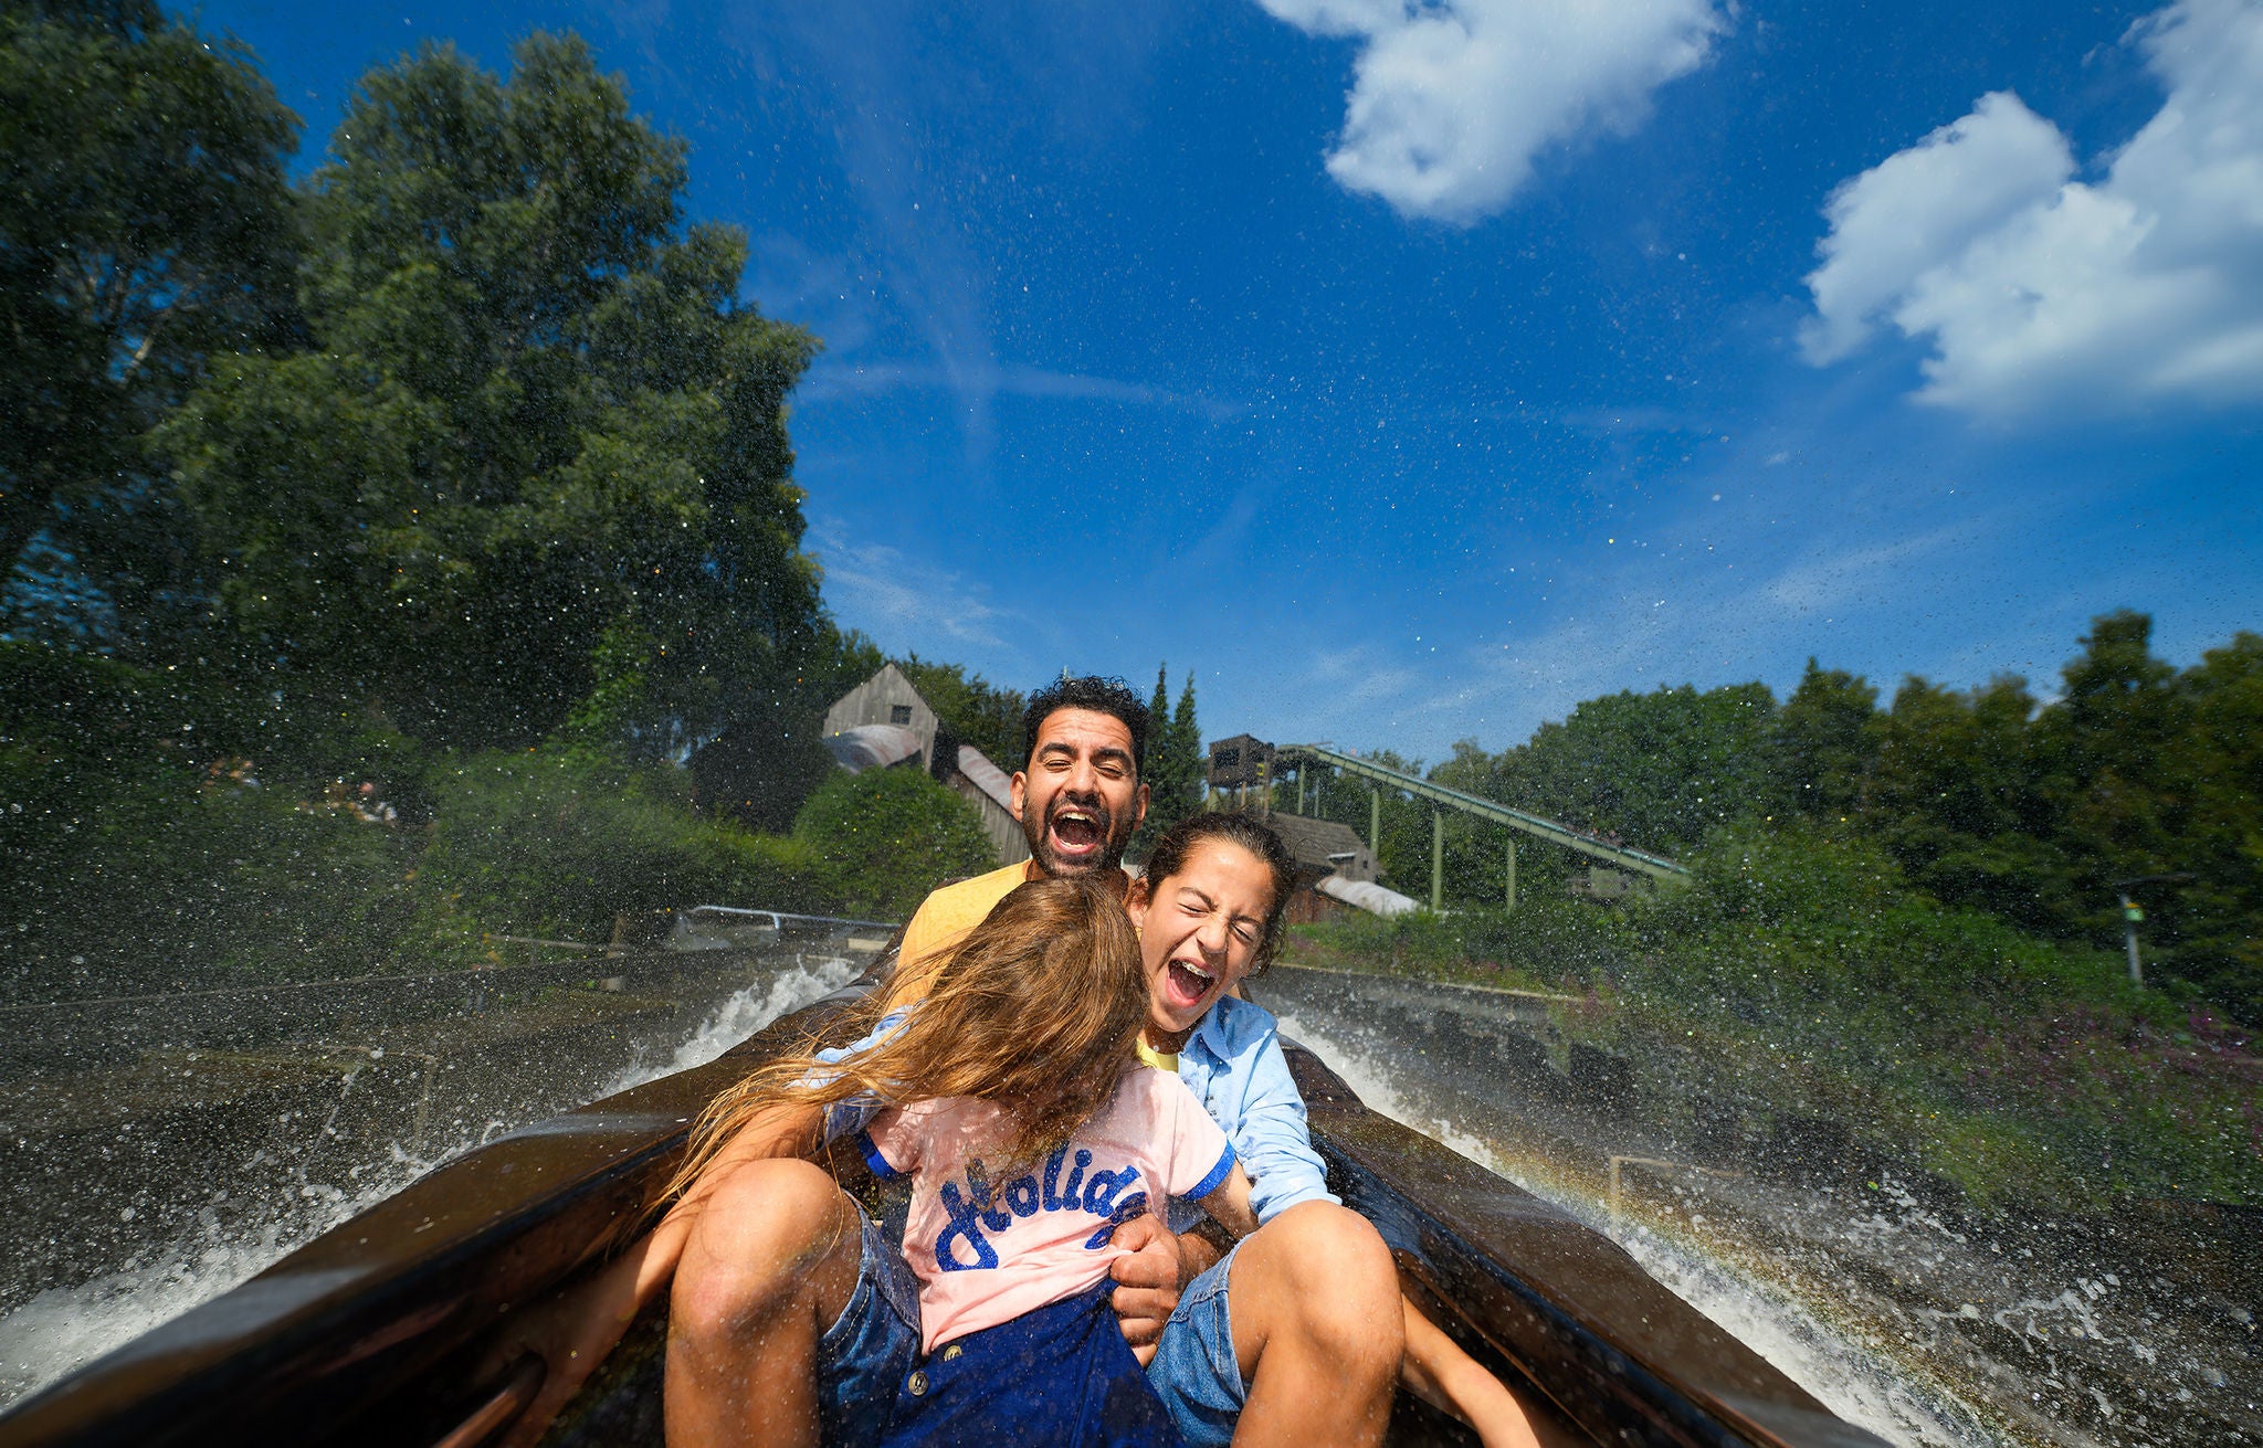
[[[1132,760],[1132,731],[1116,715],[1057,708],[1030,760],[1014,772],[1014,815],[1048,876],[1089,876],[1122,862],[1147,817],[1147,785]]]

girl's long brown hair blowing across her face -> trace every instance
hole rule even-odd
[[[858,1025],[869,1032],[880,1014],[874,991]],[[1109,1102],[1145,1020],[1138,937],[1116,891],[1089,878],[1032,880],[960,941],[885,1041],[840,1063],[817,1061],[808,1043],[708,1102],[668,1195],[688,1190],[774,1104],[996,1102],[1014,1131],[1000,1143],[1005,1161],[1025,1167]]]

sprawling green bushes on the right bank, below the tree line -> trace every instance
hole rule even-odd
[[[2263,1201],[2252,1041],[2136,991],[2118,955],[1942,905],[1874,842],[1810,821],[1729,826],[1688,864],[1688,889],[1627,907],[1346,921],[1306,928],[1299,955],[1600,986],[1616,1009],[1559,1009],[1557,1029],[1693,1091],[1842,1118],[1976,1201]]]

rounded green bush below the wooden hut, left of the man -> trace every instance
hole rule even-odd
[[[835,774],[794,817],[840,910],[907,921],[928,891],[998,869],[982,817],[914,769]]]

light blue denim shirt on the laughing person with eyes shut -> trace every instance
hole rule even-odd
[[[892,1036],[898,1025],[903,1011],[892,1011],[862,1041],[821,1050],[817,1059],[846,1061]],[[1249,1172],[1249,1208],[1258,1222],[1272,1222],[1299,1201],[1335,1201],[1328,1167],[1313,1149],[1303,1095],[1288,1075],[1272,1011],[1220,996],[1179,1050],[1179,1079],[1233,1143]],[[880,1102],[869,1097],[826,1106],[826,1140],[853,1136],[876,1115]],[[1172,1199],[1165,1219],[1172,1231],[1190,1231],[1202,1219],[1202,1208]]]

